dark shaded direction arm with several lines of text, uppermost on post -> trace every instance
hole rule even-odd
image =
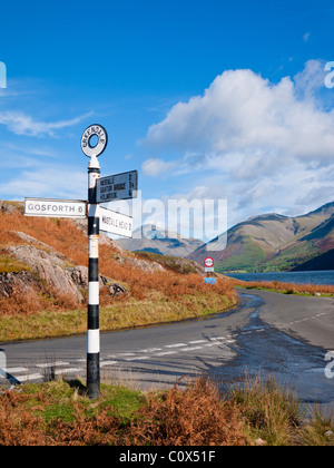
[[[97,203],[128,199],[137,196],[138,172],[116,174],[97,179]]]

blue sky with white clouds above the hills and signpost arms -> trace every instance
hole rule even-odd
[[[0,14],[1,198],[86,198],[80,137],[98,123],[101,175],[138,169],[143,199],[226,198],[228,225],[334,199],[333,2],[32,0]]]

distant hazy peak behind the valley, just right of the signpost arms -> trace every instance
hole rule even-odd
[[[153,252],[178,257],[186,257],[204,245],[204,242],[197,238],[183,238],[178,233],[165,233],[165,230],[150,224],[135,230],[132,238],[120,238],[116,243],[131,252]]]

